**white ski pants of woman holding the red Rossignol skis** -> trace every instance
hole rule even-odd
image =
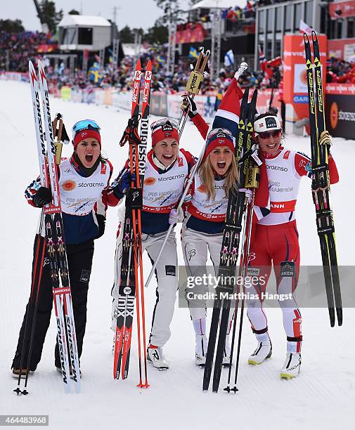
[[[166,232],[157,233],[156,235],[142,234],[143,252],[146,250],[152,264],[157,258]],[[115,283],[112,288],[112,325],[115,331],[117,315],[118,289],[120,283],[122,260],[122,237],[117,237],[116,254],[115,254]],[[177,254],[175,232],[170,233],[164,251],[160,256],[157,268],[155,270],[157,278],[157,289],[155,307],[153,310],[152,329],[150,332],[150,344],[155,346],[164,346],[171,335],[170,323],[174,315],[174,306],[176,301],[176,291],[178,289],[177,275]]]

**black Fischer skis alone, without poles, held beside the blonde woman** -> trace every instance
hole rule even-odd
[[[245,93],[240,105],[240,120],[238,124],[238,139],[235,144],[235,159],[237,163],[242,160],[243,154],[250,152],[252,147],[252,131],[255,114],[255,106],[257,100],[257,91],[254,91],[252,102],[247,114],[247,102],[249,97],[249,88],[245,89]],[[245,164],[240,167],[240,184],[238,188],[244,187],[245,176],[247,170]],[[245,193],[233,192],[228,196],[228,207],[226,211],[226,225],[221,245],[221,257],[219,263],[219,279],[224,279],[225,282],[219,283],[216,289],[216,299],[214,300],[214,308],[212,312],[211,327],[209,330],[209,340],[207,347],[205,371],[203,375],[202,389],[208,390],[209,382],[212,375],[212,367],[214,360],[214,351],[217,351],[214,361],[214,374],[212,390],[218,391],[219,380],[221,377],[221,368],[223,362],[224,346],[226,341],[226,332],[228,325],[228,315],[231,308],[231,299],[222,299],[226,294],[233,294],[235,268],[238,260],[240,235],[243,227],[243,215],[245,211]],[[218,339],[217,339],[218,335]]]

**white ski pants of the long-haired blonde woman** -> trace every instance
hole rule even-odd
[[[214,273],[218,274],[219,259],[221,254],[221,245],[223,233],[218,233],[214,235],[209,235],[206,233],[201,233],[199,231],[191,230],[191,228],[186,228],[183,226],[181,231],[181,245],[183,247],[183,259],[185,260],[185,266],[188,276],[202,276],[206,273],[206,263],[207,263],[207,251],[211,257]],[[211,288],[208,285],[202,283],[202,285],[195,285],[193,287],[193,292],[196,294],[205,294],[210,291]],[[186,292],[189,288],[186,288]],[[188,300],[188,298],[186,298]],[[193,304],[188,300],[191,319],[199,320],[200,318],[206,318],[207,307],[205,300],[198,300],[198,304]],[[234,308],[231,308],[229,315],[230,324],[228,328],[231,327],[231,320],[233,318]],[[229,330],[228,330],[229,332]]]

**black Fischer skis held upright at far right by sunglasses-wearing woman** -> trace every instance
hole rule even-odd
[[[316,207],[316,226],[321,244],[325,292],[328,301],[330,326],[342,325],[342,295],[340,290],[339,271],[337,267],[337,250],[335,246],[335,228],[333,210],[330,202],[330,179],[328,157],[330,148],[319,143],[321,133],[325,130],[325,107],[321,56],[316,32],[312,31],[313,59],[311,43],[304,33],[304,50],[306,54],[306,74],[309,96],[309,126],[311,129],[312,159],[312,196]]]

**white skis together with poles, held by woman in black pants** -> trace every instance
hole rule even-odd
[[[29,62],[30,86],[32,93],[32,108],[34,113],[34,126],[37,138],[37,151],[39,159],[39,174],[41,186],[51,188],[53,200],[46,204],[41,213],[37,246],[34,254],[34,268],[30,295],[30,306],[27,310],[25,322],[24,341],[20,359],[20,373],[18,388],[14,390],[18,394],[27,394],[27,380],[32,355],[34,330],[39,298],[39,287],[44,266],[45,253],[49,259],[51,270],[51,287],[53,290],[54,309],[56,312],[57,338],[60,351],[60,364],[62,370],[65,393],[70,393],[71,382],[75,386],[75,392],[80,391],[79,356],[77,351],[77,339],[75,332],[74,313],[67,267],[67,254],[63,237],[63,218],[60,206],[60,193],[58,185],[58,164],[60,156],[57,156],[57,145],[60,145],[63,121],[60,115],[51,122],[51,110],[49,105],[49,91],[44,72],[44,65],[38,62],[38,77],[32,62]],[[43,121],[42,121],[43,118]],[[44,124],[44,125],[43,125]],[[57,126],[59,126],[57,130]],[[57,141],[55,141],[56,134]],[[44,235],[43,235],[44,234]],[[44,288],[49,286],[44,285]],[[27,372],[25,389],[20,390],[20,377],[23,360],[25,357],[25,345],[28,336],[28,315],[33,309],[32,330],[30,344],[27,353]]]

